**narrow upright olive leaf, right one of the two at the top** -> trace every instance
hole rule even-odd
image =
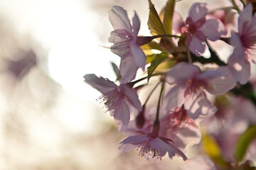
[[[166,2],[166,7],[164,9],[164,30],[167,34],[171,34],[172,18],[174,16],[176,0],[169,0]]]

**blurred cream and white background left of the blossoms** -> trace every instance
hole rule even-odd
[[[153,0],[152,0],[153,1]],[[161,11],[166,1],[153,1]],[[179,1],[184,16],[193,3]],[[215,3],[216,4],[216,3]],[[146,0],[0,1],[0,169],[178,169],[180,158],[147,162],[121,154],[114,120],[83,82],[114,80],[107,38],[113,5],[134,10],[149,35]],[[221,4],[218,4],[221,6]]]

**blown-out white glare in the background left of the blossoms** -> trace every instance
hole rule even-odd
[[[108,35],[105,34],[104,42],[99,36],[102,33],[95,31],[100,30],[98,23],[108,20],[107,15],[102,18],[101,14],[92,11],[89,1],[81,0],[0,1],[0,11],[20,35],[30,35],[46,52],[46,57],[41,57],[40,52],[37,54],[41,69],[65,91],[53,115],[73,132],[95,133],[99,126],[95,125],[95,111],[102,107],[95,98],[100,93],[85,84],[82,77],[95,73],[114,79],[110,60],[117,61],[118,57],[100,46],[107,46]],[[109,24],[103,31],[108,33],[110,29]],[[35,135],[44,137],[43,131],[34,130]]]

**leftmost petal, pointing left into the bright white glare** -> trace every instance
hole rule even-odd
[[[87,84],[90,84],[90,86],[97,89],[97,91],[100,91],[102,94],[107,91],[117,89],[118,87],[113,81],[104,79],[102,77],[99,78],[95,74],[85,74],[84,78]]]

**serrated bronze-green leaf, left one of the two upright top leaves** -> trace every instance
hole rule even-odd
[[[161,23],[159,14],[157,13],[156,8],[154,8],[154,5],[152,4],[151,0],[149,0],[148,26],[149,30],[151,30],[151,35],[159,35],[165,33],[163,23]]]

